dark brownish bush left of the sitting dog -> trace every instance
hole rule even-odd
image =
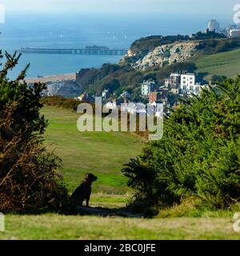
[[[6,58],[0,71],[0,211],[61,210],[68,200],[62,177],[55,171],[61,161],[43,146],[47,123],[39,114],[46,86],[36,83],[29,88],[23,81],[26,70],[10,81],[6,75],[20,55],[6,54]]]

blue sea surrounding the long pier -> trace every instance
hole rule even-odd
[[[210,19],[222,26],[230,15],[210,14],[10,14],[0,24],[0,49],[14,53],[22,47],[85,48],[107,46],[128,49],[138,38],[150,35],[192,34],[205,30]],[[122,56],[22,54],[8,76],[15,78],[30,63],[27,78],[69,74],[83,68],[118,63]],[[2,62],[5,60],[3,59]]]

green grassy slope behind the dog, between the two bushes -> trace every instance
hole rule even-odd
[[[77,130],[79,114],[70,110],[45,107],[49,119],[47,146],[62,158],[63,174],[68,188],[78,186],[87,172],[98,176],[94,193],[126,193],[122,165],[142,150],[140,138],[127,133],[85,132]]]

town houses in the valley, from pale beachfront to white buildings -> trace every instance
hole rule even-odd
[[[53,79],[53,82],[47,82],[47,78]],[[59,81],[58,79],[62,79]],[[69,80],[69,78],[71,78]],[[47,96],[67,94],[66,89],[71,88],[74,90],[76,87],[76,93],[78,93],[78,87],[75,84],[74,74],[66,74],[54,77],[34,78],[26,80],[29,84],[33,82],[46,82],[48,90],[46,91]],[[159,86],[153,79],[144,80],[141,84],[141,94],[139,95],[142,99],[138,103],[148,103],[154,107],[155,112],[157,111],[158,104],[162,104],[164,107],[165,114],[170,113],[171,108],[178,108],[180,102],[179,98],[193,97],[194,95],[201,94],[202,90],[208,90],[210,88],[210,82],[206,83],[202,78],[199,78],[197,74],[188,73],[186,70],[178,73],[170,74],[169,78],[165,78],[164,86]],[[94,102],[95,95],[88,92],[83,92],[78,97],[74,97],[79,102]],[[173,98],[170,100],[170,98]],[[122,91],[122,94],[115,98],[114,94],[110,94],[108,88],[102,91],[102,103],[107,110],[122,110],[122,105],[128,104],[124,110],[130,114],[143,114],[146,110],[141,105],[131,102],[131,94],[128,91]],[[156,112],[156,114],[158,114]]]

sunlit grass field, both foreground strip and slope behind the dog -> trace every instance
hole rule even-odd
[[[46,145],[62,158],[60,171],[68,189],[78,186],[90,171],[99,177],[90,206],[125,207],[131,191],[121,168],[141,151],[144,142],[133,134],[79,133],[78,114],[70,110],[45,107],[42,113],[50,123]],[[182,204],[153,219],[9,214],[0,239],[240,239],[233,230],[233,214],[198,214],[191,207],[191,203]]]

